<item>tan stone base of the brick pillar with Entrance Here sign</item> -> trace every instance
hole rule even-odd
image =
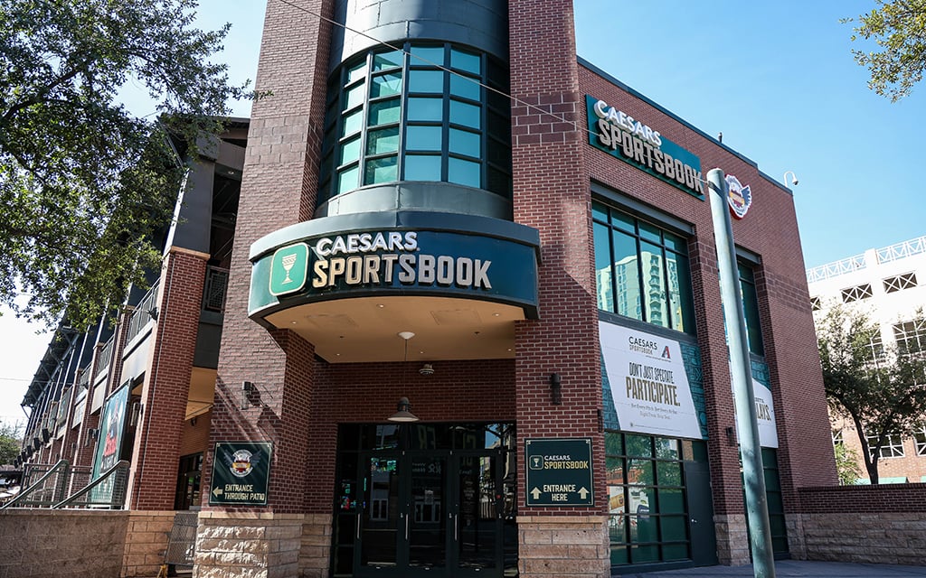
[[[519,516],[521,578],[609,578],[607,516]]]

